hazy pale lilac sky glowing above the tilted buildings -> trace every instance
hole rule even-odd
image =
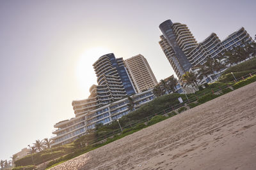
[[[174,74],[158,44],[159,24],[187,24],[198,42],[244,27],[256,34],[256,1],[0,1],[0,159],[51,138],[74,117],[72,101],[96,84],[106,53],[143,55],[157,81]]]

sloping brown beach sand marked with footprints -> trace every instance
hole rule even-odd
[[[256,82],[51,169],[256,169]]]

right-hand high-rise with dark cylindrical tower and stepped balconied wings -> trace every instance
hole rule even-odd
[[[215,33],[212,33],[201,43],[196,42],[185,24],[166,20],[159,25],[159,29],[163,34],[160,36],[159,45],[179,79],[191,67],[202,65],[208,58],[214,58],[223,54],[225,50],[241,45],[241,41],[244,43],[253,41],[243,27],[222,42]]]

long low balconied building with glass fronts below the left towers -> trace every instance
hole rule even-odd
[[[148,103],[154,99],[152,89],[139,94],[134,94],[135,109],[140,108],[142,104]],[[95,110],[88,110],[84,113],[79,113],[75,118],[63,120],[54,125],[56,131],[52,134],[56,135],[51,138],[54,143],[51,146],[65,145],[88,133],[88,130],[94,129],[96,124],[110,124],[113,120],[127,115],[131,110],[127,106],[129,99],[124,98],[113,103],[106,104]],[[76,111],[76,109],[74,109]]]

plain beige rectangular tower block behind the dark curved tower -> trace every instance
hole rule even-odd
[[[156,77],[143,55],[139,54],[126,59],[125,67],[131,75],[137,92],[143,92],[143,90],[154,88],[157,85]]]

